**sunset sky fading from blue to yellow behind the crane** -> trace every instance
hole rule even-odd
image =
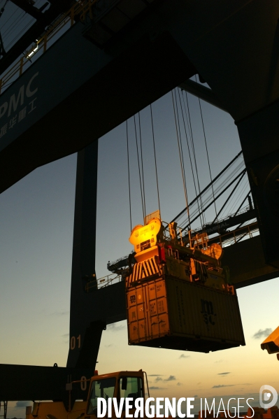
[[[189,99],[199,179],[204,187],[209,175],[199,104],[196,98]],[[216,176],[241,146],[229,114],[204,102],[202,110],[211,170]],[[185,207],[170,93],[153,104],[153,113],[162,219],[170,221]],[[131,211],[132,225],[136,225],[143,220],[133,123],[129,120]],[[149,108],[141,112],[141,128],[150,213],[158,204]],[[120,125],[99,140],[98,278],[108,274],[108,260],[131,251],[125,129]],[[188,171],[187,162],[185,166]],[[66,365],[75,177],[76,155],[70,155],[36,169],[0,195],[1,363]],[[190,174],[187,188],[191,199],[194,188]],[[207,221],[213,218],[214,213],[206,213]],[[277,278],[238,290],[246,346],[215,353],[131,347],[126,323],[110,325],[103,332],[99,374],[144,369],[152,397],[195,397],[196,413],[200,397],[253,397],[254,405],[259,406],[262,385],[279,390],[276,356],[260,348],[266,334],[278,326],[278,295]],[[23,405],[10,403],[8,417],[23,418]]]

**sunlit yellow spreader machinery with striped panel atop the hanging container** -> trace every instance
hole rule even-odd
[[[127,277],[127,287],[168,275],[234,293],[227,269],[221,268],[222,248],[217,243],[208,246],[205,233],[194,236],[185,246],[182,237],[178,240],[176,223],[165,229],[159,218],[152,218],[148,225],[136,225],[129,241],[134,245],[136,264]]]

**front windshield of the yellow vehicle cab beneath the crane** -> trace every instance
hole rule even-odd
[[[103,378],[99,381],[92,381],[90,400],[87,406],[88,415],[96,415],[98,397],[108,400],[108,397],[113,397],[115,390],[115,377]]]

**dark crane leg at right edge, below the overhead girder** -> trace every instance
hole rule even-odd
[[[279,268],[279,100],[236,122],[267,264]]]

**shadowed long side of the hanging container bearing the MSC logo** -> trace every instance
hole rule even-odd
[[[236,295],[173,278],[166,278],[166,290],[173,334],[243,342]]]

